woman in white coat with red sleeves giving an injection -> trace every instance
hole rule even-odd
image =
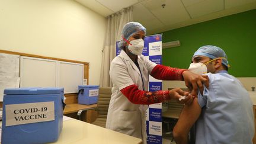
[[[170,68],[157,65],[142,55],[146,28],[142,24],[130,22],[124,25],[122,39],[119,42],[121,53],[110,66],[110,78],[113,82],[112,95],[108,108],[106,128],[138,137],[146,143],[146,109],[149,104],[162,103],[171,98],[180,103],[190,104],[197,87],[203,88],[208,79],[196,75],[187,69]],[[149,75],[162,80],[185,81],[191,94],[180,88],[171,91],[148,91]],[[196,94],[193,94],[196,93]]]

